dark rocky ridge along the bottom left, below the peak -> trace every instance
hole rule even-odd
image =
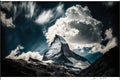
[[[2,75],[1,76],[75,76],[76,72],[65,68],[63,66],[47,63],[41,61],[28,63],[24,60],[2,60]]]

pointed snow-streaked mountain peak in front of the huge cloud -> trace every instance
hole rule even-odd
[[[52,60],[57,64],[85,69],[90,66],[87,59],[72,52],[67,42],[56,35],[49,50],[44,54],[43,60]]]

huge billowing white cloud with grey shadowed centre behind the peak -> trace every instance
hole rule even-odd
[[[87,6],[72,6],[65,12],[65,17],[57,19],[48,29],[46,38],[51,43],[55,35],[65,38],[71,49],[82,44],[89,46],[101,42],[102,23],[92,17]]]

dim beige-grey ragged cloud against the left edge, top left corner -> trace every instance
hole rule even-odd
[[[15,28],[15,25],[13,24],[13,17],[12,16],[9,16],[9,18],[6,17],[12,10],[13,4],[11,2],[1,2],[0,6],[1,6],[0,23],[5,27]],[[6,12],[2,11],[2,9],[6,10]]]

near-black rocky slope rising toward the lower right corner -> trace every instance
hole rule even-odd
[[[82,70],[79,76],[119,76],[119,48],[115,47],[96,60],[90,67]]]

